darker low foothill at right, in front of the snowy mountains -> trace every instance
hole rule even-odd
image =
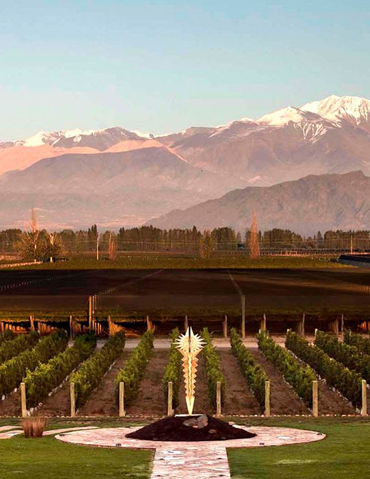
[[[310,175],[270,187],[246,187],[148,224],[200,229],[231,226],[245,231],[255,210],[262,230],[289,228],[303,234],[327,229],[369,229],[370,177],[361,171]]]

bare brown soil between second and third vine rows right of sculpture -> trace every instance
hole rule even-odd
[[[276,370],[258,348],[248,348],[252,352],[256,363],[265,370],[271,384],[271,413],[274,415],[310,414],[306,405],[285,382],[282,375]]]

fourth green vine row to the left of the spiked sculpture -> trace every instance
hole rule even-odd
[[[50,391],[59,386],[75,368],[85,361],[96,347],[96,337],[92,333],[78,336],[72,348],[60,352],[36,370],[27,371],[24,382],[27,406],[37,406]]]

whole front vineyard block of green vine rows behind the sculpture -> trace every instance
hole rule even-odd
[[[194,411],[222,415],[366,415],[370,339],[288,330],[285,344],[261,330],[243,341],[200,331]],[[0,415],[159,417],[185,412],[181,357],[154,328],[96,341],[63,330],[0,336]]]

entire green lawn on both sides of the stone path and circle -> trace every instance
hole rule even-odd
[[[231,418],[230,418],[231,419]],[[370,477],[370,419],[360,417],[254,418],[241,424],[317,430],[323,441],[269,448],[229,449],[233,479],[365,479]],[[19,424],[1,419],[0,425]],[[48,428],[69,426],[114,427],[122,419],[94,419],[79,423],[58,419]],[[139,423],[136,423],[139,424]],[[153,452],[89,448],[56,441],[53,437],[0,441],[1,478],[149,478]],[[179,478],[181,479],[181,478]]]

